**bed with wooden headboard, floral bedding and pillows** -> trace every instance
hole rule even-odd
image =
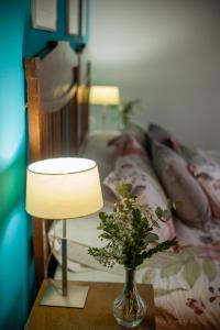
[[[88,134],[90,66],[85,58],[59,44],[45,57],[26,62],[30,161],[62,155],[96,160],[107,212],[117,198],[119,180],[131,182],[143,202],[164,207],[167,196],[184,200],[158,229],[160,240],[177,237],[178,246],[147,260],[136,280],[154,285],[157,329],[219,329],[220,219],[213,196],[218,197],[220,155],[186,147],[157,125],[144,130],[133,124],[123,132]],[[58,74],[64,65],[67,76],[74,73],[68,84]],[[58,75],[45,85],[42,77],[48,70]],[[68,97],[61,102],[61,95],[56,99],[52,90],[64,85]],[[50,92],[52,107],[48,101],[44,105],[48,98],[42,90]],[[54,276],[61,278],[62,224],[54,222],[47,228],[46,221],[33,221],[37,282],[47,276],[51,255],[57,262]],[[98,223],[98,215],[67,221],[68,278],[123,282],[121,266],[103,268],[87,253],[88,246],[100,246]]]

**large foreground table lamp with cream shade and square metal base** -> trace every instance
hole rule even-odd
[[[40,219],[63,221],[62,294],[50,283],[42,305],[84,308],[88,287],[68,288],[67,285],[66,220],[95,213],[102,206],[99,173],[94,161],[63,157],[29,165],[26,212]]]

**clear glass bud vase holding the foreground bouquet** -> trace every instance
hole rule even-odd
[[[124,328],[141,323],[146,314],[146,304],[139,295],[135,283],[135,270],[125,268],[125,283],[122,294],[113,302],[113,315]]]

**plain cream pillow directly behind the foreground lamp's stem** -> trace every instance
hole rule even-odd
[[[105,207],[103,211],[110,212],[111,208]],[[67,266],[73,272],[88,272],[88,267],[99,271],[107,268],[100,265],[91,255],[88,254],[89,246],[102,248],[105,242],[99,239],[100,223],[98,212],[66,221],[67,235]],[[62,221],[54,221],[48,231],[48,241],[53,255],[59,264],[62,264]],[[119,273],[120,266],[116,265],[111,272]],[[122,268],[123,272],[123,268]]]

